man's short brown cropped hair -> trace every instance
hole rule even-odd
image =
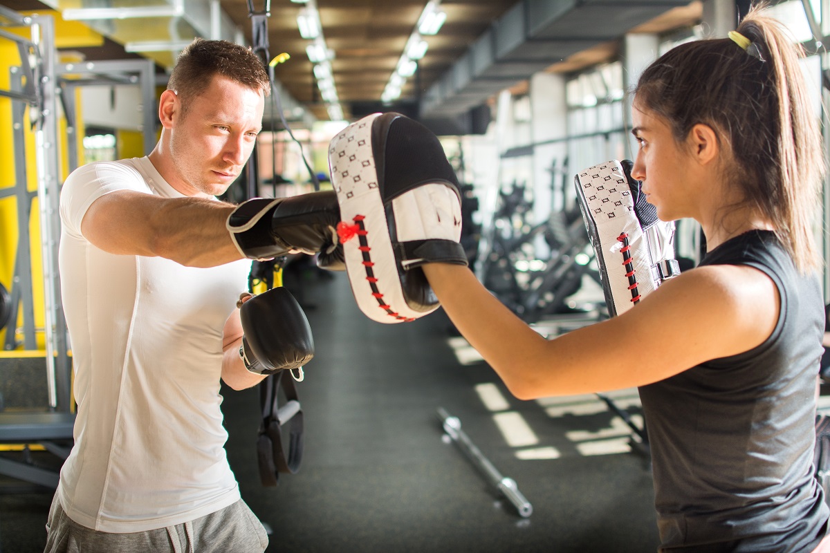
[[[271,82],[265,65],[251,48],[229,41],[191,42],[176,61],[167,88],[175,90],[187,111],[189,100],[207,90],[214,75],[222,75],[252,90],[271,93]]]

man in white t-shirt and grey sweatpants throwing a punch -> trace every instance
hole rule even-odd
[[[197,39],[159,99],[153,152],[66,180],[60,271],[78,411],[46,551],[267,546],[227,463],[219,395],[220,377],[242,390],[268,372],[243,359],[235,308],[242,258],[262,255],[247,254],[235,206],[215,196],[247,162],[269,92],[250,49]],[[291,250],[263,232],[272,255]]]

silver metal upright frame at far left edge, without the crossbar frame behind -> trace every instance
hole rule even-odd
[[[62,442],[71,444],[75,415],[71,412],[71,362],[68,354],[66,319],[61,306],[61,283],[57,272],[57,245],[60,240],[61,221],[58,216],[60,200],[59,148],[57,133],[57,78],[55,22],[51,16],[23,17],[17,12],[0,6],[0,17],[14,27],[30,27],[32,40],[2,32],[2,38],[17,42],[21,53],[22,74],[12,75],[12,90],[2,95],[12,99],[17,179],[14,192],[17,196],[18,235],[15,282],[12,297],[19,298],[24,306],[24,346],[36,349],[33,322],[31,260],[28,259],[29,233],[27,224],[32,206],[32,193],[27,190],[26,155],[23,140],[23,120],[28,108],[35,134],[37,158],[37,197],[41,223],[41,255],[43,260],[44,302],[46,310],[46,381],[49,409],[36,413],[0,413],[0,442],[12,444],[41,444],[44,449],[66,458],[69,449]],[[16,71],[12,71],[15,73]],[[9,196],[6,194],[5,196]],[[17,303],[15,303],[17,306]],[[17,309],[17,308],[15,308]],[[11,349],[16,332],[11,328]],[[8,334],[8,332],[7,332]],[[56,441],[57,440],[57,441]],[[25,453],[24,449],[24,453]],[[55,487],[58,475],[54,471],[37,467],[24,454],[22,461],[0,459],[0,473],[7,474],[38,486]]]

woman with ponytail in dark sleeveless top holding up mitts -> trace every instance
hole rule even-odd
[[[755,8],[730,38],[655,61],[633,107],[632,177],[662,220],[701,224],[698,268],[549,341],[469,270],[429,264],[427,278],[517,397],[639,386],[660,551],[830,549],[812,469],[824,165],[798,51]]]

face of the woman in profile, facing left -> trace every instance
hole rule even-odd
[[[657,207],[662,221],[675,221],[696,215],[695,187],[691,175],[691,156],[678,144],[666,120],[649,109],[632,109],[632,134],[639,148],[631,175],[642,181],[642,192]]]

